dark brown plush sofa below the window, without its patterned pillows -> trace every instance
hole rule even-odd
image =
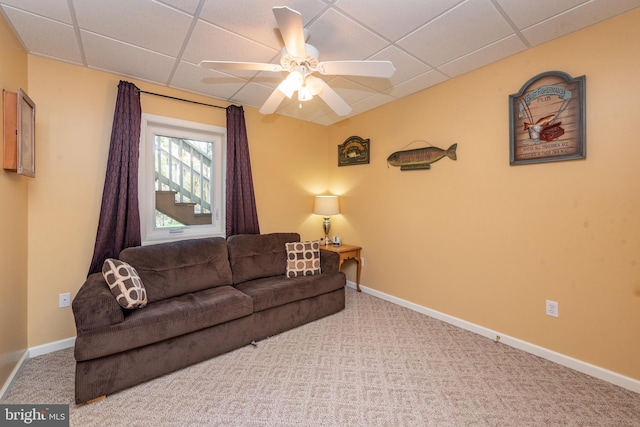
[[[297,233],[191,239],[127,248],[148,303],[123,309],[101,273],[72,308],[77,403],[123,390],[345,306],[339,255],[320,250],[321,274],[287,278],[285,244]]]

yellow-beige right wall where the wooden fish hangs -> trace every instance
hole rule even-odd
[[[637,9],[331,127],[371,139],[369,165],[329,163],[362,283],[640,380],[638,51]],[[586,75],[587,159],[510,166],[508,97],[551,70]],[[387,166],[415,140],[458,160]]]

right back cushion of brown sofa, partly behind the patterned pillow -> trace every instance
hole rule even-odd
[[[233,283],[284,275],[289,242],[299,242],[298,233],[237,234],[227,239]]]

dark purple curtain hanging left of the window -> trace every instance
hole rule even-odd
[[[138,88],[121,80],[113,115],[107,175],[89,274],[102,271],[104,260],[117,258],[122,249],[140,246],[138,154],[141,117]]]

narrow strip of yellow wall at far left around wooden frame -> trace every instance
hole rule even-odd
[[[27,86],[27,55],[0,17],[0,86]],[[4,114],[0,102],[0,117]],[[4,128],[0,120],[0,138]],[[4,150],[0,150],[1,162]],[[0,170],[0,387],[27,350],[27,188],[29,178]]]

